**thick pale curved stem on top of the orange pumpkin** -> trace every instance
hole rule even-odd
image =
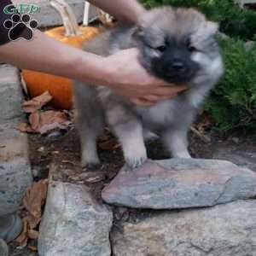
[[[76,15],[73,13],[73,9],[65,2],[65,0],[52,0],[50,5],[56,9],[61,15],[63,26],[65,27],[67,37],[79,36],[79,25]]]

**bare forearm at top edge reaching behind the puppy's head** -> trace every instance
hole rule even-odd
[[[144,12],[143,6],[136,0],[90,0],[89,2],[126,23],[137,23],[138,17]]]

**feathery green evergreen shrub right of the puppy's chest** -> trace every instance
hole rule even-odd
[[[206,108],[221,131],[256,128],[256,46],[246,49],[239,40],[220,42],[226,73]]]

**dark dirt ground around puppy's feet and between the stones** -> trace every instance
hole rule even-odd
[[[216,155],[218,155],[218,158],[232,160],[230,159],[230,154],[228,156],[225,155],[226,152],[236,152],[236,154],[241,155],[256,154],[255,135],[253,137],[253,135],[245,134],[241,131],[229,137],[221,137],[215,131],[207,131],[206,135],[211,139],[210,143],[204,142],[193,132],[189,134],[189,150],[196,158],[211,159],[216,158]],[[112,140],[109,134],[105,137],[108,137],[108,140]],[[101,201],[100,195],[102,188],[115,177],[119,169],[124,165],[121,149],[115,147],[115,145],[110,147],[111,149],[109,150],[100,149],[102,166],[99,170],[96,170],[96,172],[86,172],[86,170],[83,170],[79,160],[79,138],[74,128],[57,137],[30,135],[29,144],[32,172],[35,181],[47,178],[50,166],[55,164],[55,166],[58,166],[58,170],[62,170],[61,172],[53,173],[55,178],[60,178],[70,183],[84,183],[90,187],[99,201]],[[160,141],[148,143],[147,148],[148,156],[151,159],[160,160],[168,158],[166,150],[162,147]],[[222,151],[220,148],[222,148]],[[236,162],[236,159],[233,161]],[[245,161],[247,162],[247,160]],[[254,163],[255,169],[253,171],[256,172],[256,160],[253,164]],[[85,176],[84,172],[86,172]],[[80,176],[82,176],[82,178],[78,178]],[[123,207],[113,207],[113,212],[113,228],[116,229],[119,229],[121,223],[124,221],[133,222],[137,221],[137,218],[143,218],[148,216],[148,214],[150,215],[148,211],[137,211]],[[11,245],[10,251],[11,256],[38,256],[38,253],[34,253],[27,248],[17,248],[15,243]]]

